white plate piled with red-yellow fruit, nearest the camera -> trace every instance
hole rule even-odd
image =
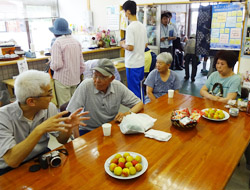
[[[139,153],[118,152],[106,160],[104,168],[114,178],[133,179],[147,170],[148,161]]]

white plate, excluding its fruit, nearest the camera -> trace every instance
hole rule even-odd
[[[111,162],[111,160],[115,157],[115,155],[116,155],[116,154],[121,154],[121,155],[123,155],[124,153],[126,153],[126,152],[117,152],[117,153],[113,154],[112,156],[110,156],[110,157],[106,160],[106,162],[105,162],[105,164],[104,164],[104,169],[105,169],[105,171],[106,171],[111,177],[114,177],[114,178],[116,178],[116,179],[133,179],[133,178],[136,178],[136,177],[141,176],[141,175],[147,170],[147,168],[148,168],[148,161],[147,161],[147,159],[146,159],[144,156],[142,156],[142,155],[139,154],[139,153],[135,153],[135,152],[128,152],[128,153],[129,153],[131,156],[133,156],[133,157],[135,157],[135,156],[137,156],[137,155],[141,156],[141,164],[142,164],[142,170],[141,170],[141,171],[136,172],[135,175],[129,175],[128,177],[123,177],[123,176],[117,176],[117,175],[115,175],[113,172],[111,172],[111,171],[109,170],[110,162]]]

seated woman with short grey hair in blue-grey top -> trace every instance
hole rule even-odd
[[[151,71],[144,82],[147,86],[147,96],[145,104],[166,94],[168,90],[179,90],[181,88],[180,79],[177,74],[170,70],[172,55],[167,52],[159,54],[156,58],[156,69]]]

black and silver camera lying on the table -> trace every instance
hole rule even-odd
[[[49,166],[58,167],[61,162],[60,152],[57,150],[39,157],[39,163],[43,169],[47,169]]]

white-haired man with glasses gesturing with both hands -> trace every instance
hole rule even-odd
[[[82,108],[69,117],[51,103],[48,73],[28,70],[15,81],[17,101],[0,108],[0,175],[38,155],[48,152],[49,134],[64,144],[79,125],[85,126]]]

